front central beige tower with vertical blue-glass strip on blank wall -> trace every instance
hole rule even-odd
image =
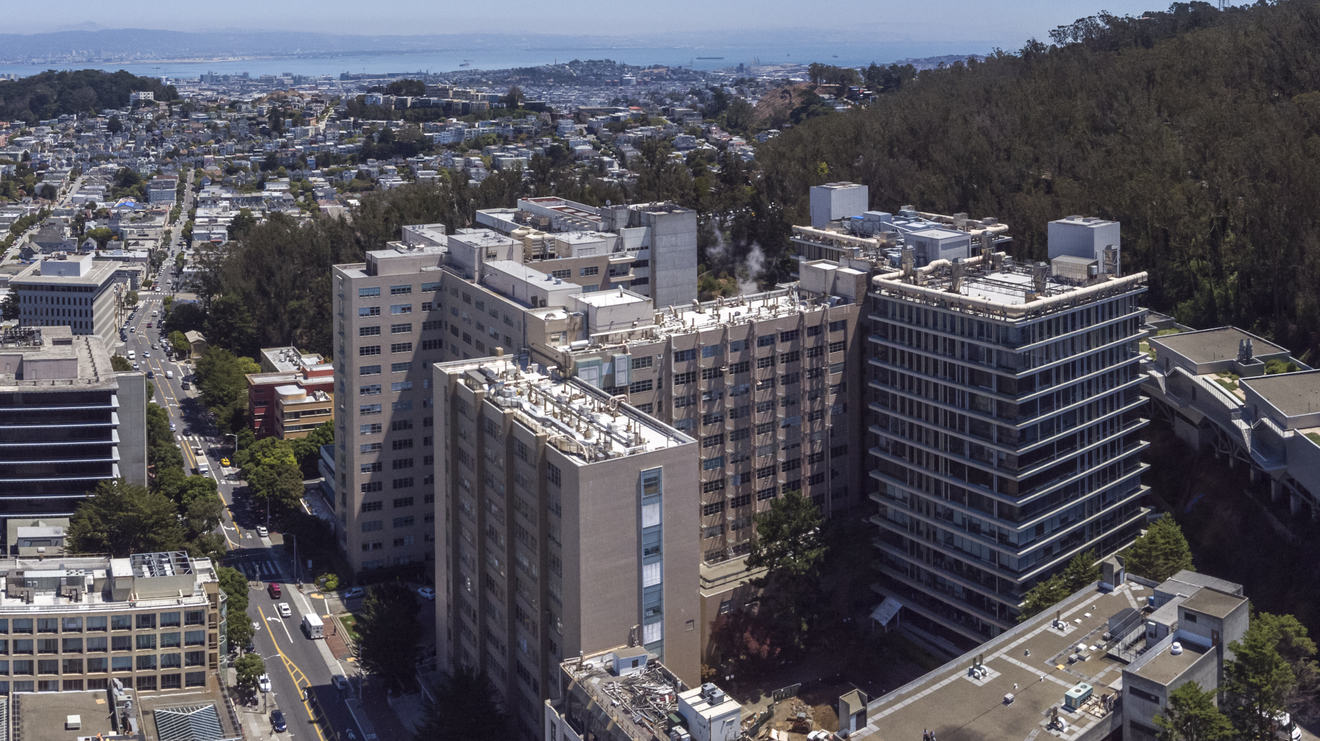
[[[508,357],[436,363],[436,638],[539,737],[560,662],[620,639],[700,683],[697,441]]]

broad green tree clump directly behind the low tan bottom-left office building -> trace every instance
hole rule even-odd
[[[102,481],[82,501],[69,522],[69,548],[75,553],[131,553],[178,551],[183,528],[178,509],[168,497],[127,479]]]

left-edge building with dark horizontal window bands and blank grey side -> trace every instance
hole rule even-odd
[[[145,376],[116,372],[100,339],[67,326],[5,330],[0,519],[69,516],[115,478],[147,483]]]

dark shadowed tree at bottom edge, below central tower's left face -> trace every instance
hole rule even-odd
[[[469,741],[511,738],[513,725],[499,704],[500,693],[484,671],[459,666],[441,675],[422,700],[422,721],[416,741]]]

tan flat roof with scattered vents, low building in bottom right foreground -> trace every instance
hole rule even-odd
[[[1122,678],[1126,664],[1106,655],[1109,618],[1139,609],[1148,594],[1150,589],[1133,582],[1109,593],[1084,589],[975,651],[873,700],[870,723],[854,738],[912,741],[927,729],[942,741],[1048,738],[1052,707],[1060,708],[1080,737],[1114,719],[1094,704],[1088,705],[1093,712],[1064,711],[1064,692],[1078,683],[1094,687],[1093,697],[1113,692],[1107,687]],[[1053,626],[1056,610],[1061,630]],[[1078,646],[1088,658],[1069,662]],[[987,670],[983,679],[969,675],[977,656]],[[1005,703],[1005,695],[1012,695],[1012,703]]]

